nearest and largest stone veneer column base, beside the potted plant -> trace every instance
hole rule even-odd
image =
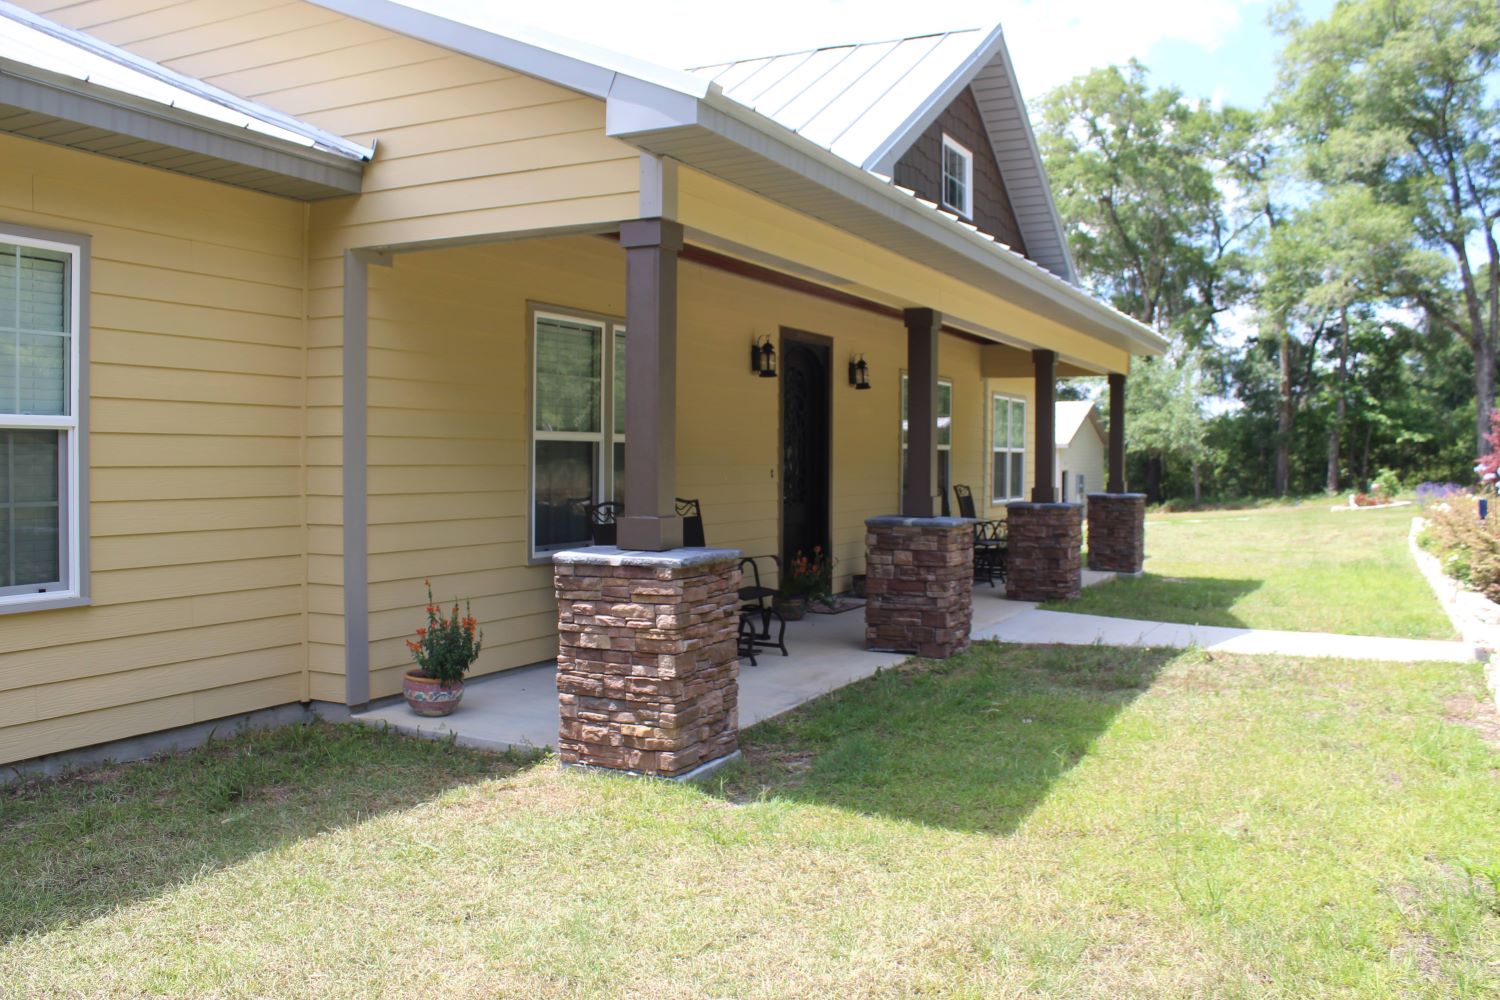
[[[596,546],[552,558],[558,756],[674,778],[740,748],[740,553]]]

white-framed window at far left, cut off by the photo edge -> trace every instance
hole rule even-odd
[[[0,226],[0,612],[84,594],[80,243]]]

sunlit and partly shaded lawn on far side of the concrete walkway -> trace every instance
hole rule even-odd
[[[1455,639],[1407,550],[1416,508],[1152,514],[1146,573],[1044,607],[1190,625]]]

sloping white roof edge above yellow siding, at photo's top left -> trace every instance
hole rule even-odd
[[[688,97],[704,97],[711,85],[686,70],[668,69],[606,48],[504,19],[504,34],[394,0],[309,0],[441,48],[538,76],[594,97],[608,97],[615,76],[627,76]],[[496,24],[501,21],[495,18]]]

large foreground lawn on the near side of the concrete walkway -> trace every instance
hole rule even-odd
[[[0,994],[1494,997],[1480,691],[986,643],[708,789],[248,736],[0,792]]]

